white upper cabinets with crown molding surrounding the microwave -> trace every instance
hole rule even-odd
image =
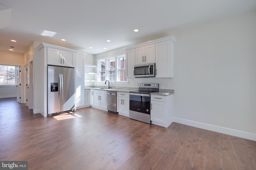
[[[170,35],[127,47],[125,49],[127,63],[126,77],[134,78],[134,65],[156,63],[156,78],[173,78],[175,42],[176,37]]]

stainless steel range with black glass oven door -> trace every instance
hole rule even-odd
[[[130,92],[129,117],[150,123],[150,93],[158,92],[158,83],[139,83],[138,91]]]

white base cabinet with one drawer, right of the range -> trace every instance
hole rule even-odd
[[[150,120],[152,124],[168,127],[173,119],[173,95],[151,95]]]

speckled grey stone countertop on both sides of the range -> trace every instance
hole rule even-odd
[[[139,88],[128,88],[128,87],[111,87],[108,89],[106,86],[85,86],[85,89],[95,89],[95,90],[106,90],[106,91],[115,91],[115,92],[130,92],[139,90]],[[174,90],[172,89],[159,89],[159,92],[150,93],[151,95],[158,96],[168,96],[174,94]]]

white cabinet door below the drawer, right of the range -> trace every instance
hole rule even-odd
[[[166,123],[166,102],[151,101],[150,120],[158,123]]]

